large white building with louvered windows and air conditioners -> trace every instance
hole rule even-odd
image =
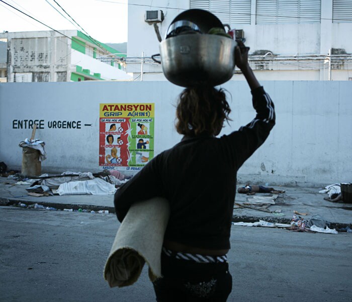
[[[127,71],[135,80],[165,81],[150,59],[159,42],[146,12],[162,11],[157,25],[164,38],[172,20],[194,8],[243,35],[259,80],[352,80],[352,0],[155,0],[152,6],[134,0],[128,7]],[[244,79],[235,71],[232,80]]]

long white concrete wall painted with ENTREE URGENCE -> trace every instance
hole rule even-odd
[[[262,82],[274,100],[277,125],[240,168],[239,182],[331,184],[352,180],[352,82]],[[223,85],[232,95],[229,133],[254,117],[243,81]],[[36,138],[46,143],[43,172],[101,171],[99,104],[155,103],[154,156],[177,143],[174,104],[182,88],[168,82],[0,84],[0,161],[21,169],[19,142],[32,129],[14,120],[43,120]],[[48,121],[80,121],[80,129],[48,128]],[[88,126],[85,126],[87,124]],[[16,128],[16,122],[15,122]]]

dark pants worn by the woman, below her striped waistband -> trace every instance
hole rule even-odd
[[[157,302],[225,302],[232,290],[227,262],[197,263],[162,253],[161,274],[153,282]]]

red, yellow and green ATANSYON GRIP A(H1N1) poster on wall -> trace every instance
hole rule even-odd
[[[154,156],[154,103],[100,104],[99,166],[141,170]]]

